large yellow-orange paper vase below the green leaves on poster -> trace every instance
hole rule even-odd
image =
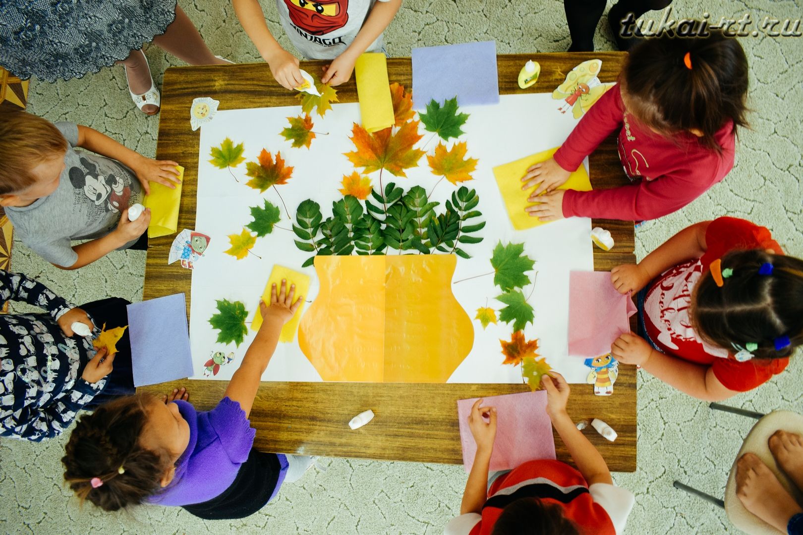
[[[324,381],[445,383],[474,345],[454,255],[316,257],[299,345]]]

